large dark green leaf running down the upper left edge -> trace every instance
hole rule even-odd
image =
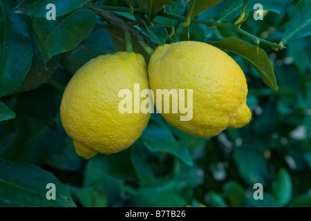
[[[17,1],[0,1],[0,97],[12,92],[31,66],[31,19],[12,12]]]

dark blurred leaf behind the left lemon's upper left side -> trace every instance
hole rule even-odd
[[[86,62],[99,56],[113,53],[109,33],[103,29],[93,30],[76,48],[62,54],[61,64],[74,74]]]

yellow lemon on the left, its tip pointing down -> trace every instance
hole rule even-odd
[[[150,114],[118,109],[124,99],[120,90],[133,94],[136,83],[140,90],[149,88],[144,58],[134,52],[100,55],[77,70],[64,91],[60,115],[78,155],[88,159],[98,152],[117,153],[140,137]]]

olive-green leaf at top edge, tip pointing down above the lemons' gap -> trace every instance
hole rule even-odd
[[[140,10],[148,15],[150,24],[162,10],[163,6],[172,2],[173,0],[138,0]]]

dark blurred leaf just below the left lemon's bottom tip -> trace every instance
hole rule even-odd
[[[46,164],[60,171],[79,171],[85,166],[84,159],[75,152],[73,140],[70,137],[66,137],[59,151],[50,157]]]

